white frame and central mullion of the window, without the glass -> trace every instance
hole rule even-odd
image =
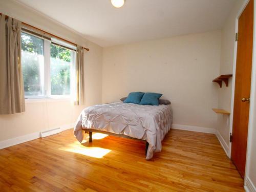
[[[33,31],[28,31],[27,29],[24,30],[22,29],[22,33],[26,33],[28,35],[32,35],[34,37],[37,38],[41,38],[43,40],[43,44],[44,44],[44,50],[43,50],[43,55],[44,55],[44,74],[42,75],[41,78],[43,79],[44,85],[42,86],[42,93],[43,95],[25,95],[25,99],[70,99],[71,98],[71,94],[69,95],[52,95],[51,94],[51,40],[49,38],[44,38],[44,36],[40,36],[39,34],[36,35],[37,33],[33,32]],[[62,47],[61,45],[61,40],[58,40],[58,45],[60,47]],[[74,53],[74,48],[68,48],[67,47],[67,43],[63,42],[63,46],[65,46],[66,49],[70,49],[71,52],[71,60],[73,60],[73,62],[71,62],[71,66],[70,66],[70,72],[72,70],[72,65],[75,65],[75,59],[76,59],[76,54]],[[71,91],[71,73],[70,73],[70,91]]]

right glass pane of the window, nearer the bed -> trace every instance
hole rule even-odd
[[[51,44],[51,95],[70,95],[71,50]]]

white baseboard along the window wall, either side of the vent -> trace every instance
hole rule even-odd
[[[60,129],[61,129],[61,131],[65,131],[65,130],[71,129],[72,127],[74,127],[74,125],[75,125],[75,123],[65,124],[65,125],[60,126]],[[35,133],[15,137],[12,139],[0,141],[0,150],[2,150],[2,148],[17,145],[20,143],[25,143],[27,141],[31,141],[31,140],[38,139],[38,138],[40,138],[40,132],[35,132]]]

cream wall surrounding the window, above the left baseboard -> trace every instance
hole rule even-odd
[[[80,34],[15,1],[0,0],[0,12],[90,49],[85,54],[86,106],[101,103],[102,48]],[[85,106],[68,100],[26,101],[26,112],[0,115],[0,141],[74,123]],[[71,126],[71,125],[70,125]]]

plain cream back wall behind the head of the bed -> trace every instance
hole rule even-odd
[[[172,102],[174,123],[215,128],[221,31],[103,49],[102,102],[129,92],[159,92]]]

